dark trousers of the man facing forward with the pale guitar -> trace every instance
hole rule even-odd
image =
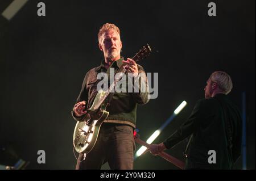
[[[129,125],[103,123],[94,148],[84,161],[77,161],[76,170],[101,169],[108,162],[110,169],[133,169],[135,142]],[[82,160],[83,154],[79,155]]]

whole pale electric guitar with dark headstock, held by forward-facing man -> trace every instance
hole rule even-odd
[[[139,50],[132,59],[134,61],[139,61],[148,57],[150,53],[151,48],[147,44]],[[124,66],[125,64],[122,64],[117,73],[125,74],[126,69]],[[123,74],[117,74],[117,76],[115,76],[113,83],[109,86],[107,91],[98,91],[92,106],[86,110],[87,113],[82,118],[82,121],[77,121],[75,131],[73,133],[73,146],[78,153],[88,154],[96,144],[101,124],[109,115],[109,112],[106,111],[108,103],[105,102],[105,99],[109,96],[110,92],[112,92],[116,83],[122,78],[122,75]]]

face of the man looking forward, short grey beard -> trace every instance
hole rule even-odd
[[[104,56],[109,59],[120,56],[122,41],[117,31],[109,30],[102,34],[99,43],[100,49],[104,52]]]

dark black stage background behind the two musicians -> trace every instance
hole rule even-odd
[[[37,15],[38,2],[46,4],[46,16]],[[208,16],[209,2],[216,3],[217,16]],[[0,1],[0,12],[10,3]],[[255,169],[255,1],[234,0],[30,0],[10,21],[0,16],[0,146],[6,148],[0,164],[22,158],[30,162],[27,169],[75,168],[70,111],[86,71],[103,58],[97,33],[107,22],[121,30],[122,56],[133,57],[146,43],[154,50],[139,63],[159,73],[158,98],[137,111],[143,140],[185,100],[188,105],[154,143],[170,136],[204,97],[209,75],[223,70],[233,79],[230,96],[240,108],[246,92],[247,169]],[[185,144],[167,152],[183,159]],[[37,163],[38,150],[46,151],[45,164]],[[134,169],[177,168],[146,154]]]

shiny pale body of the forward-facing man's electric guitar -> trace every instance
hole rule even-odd
[[[102,104],[99,110],[94,110],[95,104],[105,95],[104,91],[99,91],[93,105],[87,110],[82,121],[77,121],[73,134],[73,146],[78,153],[89,153],[96,144],[101,124],[108,117],[106,111],[108,104]]]

